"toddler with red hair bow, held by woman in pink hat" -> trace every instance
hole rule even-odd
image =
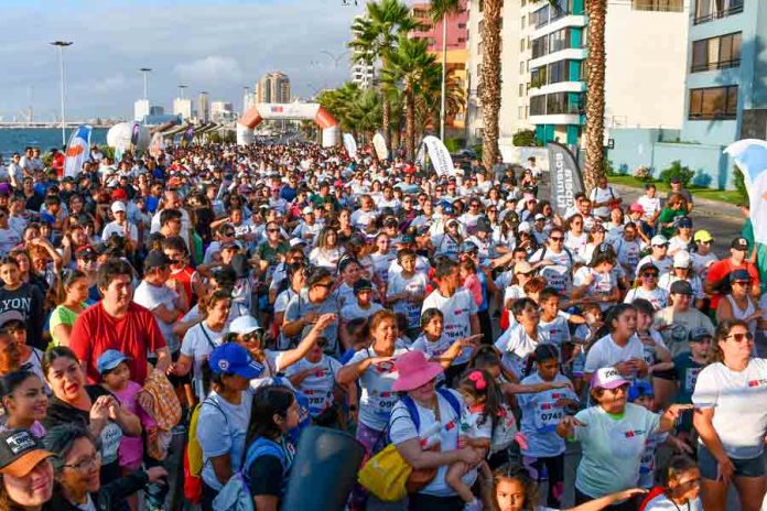
[[[457,390],[466,402],[466,406],[461,414],[458,448],[468,446],[480,450],[484,456],[490,448],[494,418],[500,411],[498,389],[493,377],[487,371],[475,369],[461,381]],[[466,503],[464,510],[479,511],[482,503],[474,497],[472,489],[461,479],[471,468],[463,461],[451,465],[447,469],[445,481]],[[483,469],[489,470],[484,463]]]

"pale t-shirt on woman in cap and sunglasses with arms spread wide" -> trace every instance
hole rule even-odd
[[[636,487],[645,443],[658,431],[659,416],[642,406],[626,403],[622,417],[611,416],[602,406],[591,406],[579,412],[575,418],[587,424],[576,426],[573,432],[583,453],[575,488],[598,498]]]

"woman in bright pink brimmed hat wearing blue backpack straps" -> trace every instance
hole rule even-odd
[[[425,487],[409,496],[410,511],[461,511],[464,500],[446,482],[450,465],[463,461],[475,466],[483,452],[471,447],[458,449],[462,395],[451,389],[435,389],[442,366],[426,360],[422,351],[408,351],[396,359],[399,376],[391,390],[404,392],[389,418],[389,436],[397,450],[414,469],[436,468],[436,475]],[[424,449],[423,445],[440,445]],[[476,469],[463,478],[467,486],[476,479]]]

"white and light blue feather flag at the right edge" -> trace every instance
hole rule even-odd
[[[767,243],[767,141],[744,139],[724,150],[743,172],[748,191],[754,239]]]

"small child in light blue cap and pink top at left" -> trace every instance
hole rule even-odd
[[[130,361],[130,358],[116,349],[108,349],[102,352],[96,361],[96,368],[99,374],[101,374],[101,387],[115,394],[115,398],[122,406],[137,414],[141,420],[142,427],[151,436],[156,431],[156,424],[144,412],[143,406],[139,405],[138,395],[141,392],[141,385],[131,381],[128,361]],[[118,454],[123,475],[138,470],[143,460],[143,442],[141,436],[123,435],[120,439]],[[129,498],[128,501],[132,510],[138,509],[136,496]]]

